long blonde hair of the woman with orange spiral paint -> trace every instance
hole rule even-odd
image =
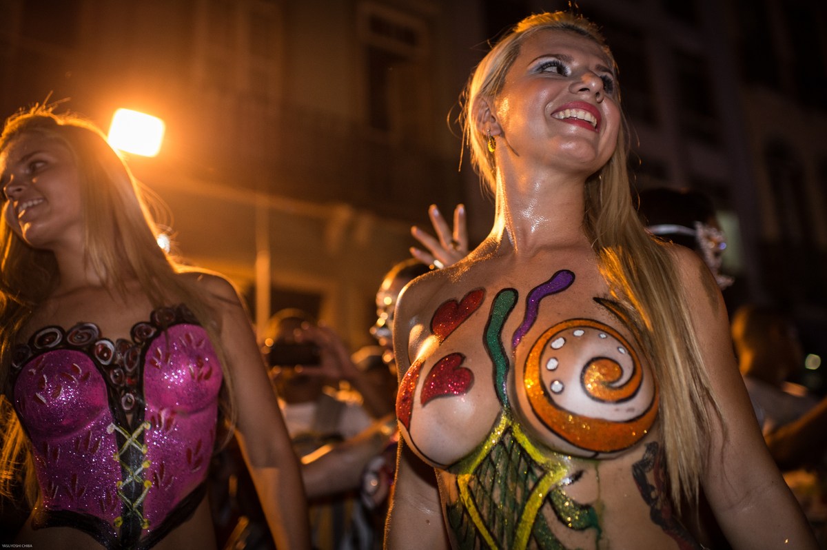
[[[471,75],[461,114],[471,163],[492,193],[496,189],[495,159],[487,149],[484,129],[478,127],[476,105],[480,99],[494,104],[520,46],[544,30],[586,36],[600,45],[617,69],[597,26],[571,12],[527,17],[498,41]],[[715,411],[717,405],[676,268],[666,248],[649,237],[633,208],[628,153],[626,132],[619,132],[614,154],[586,180],[584,227],[598,255],[600,271],[632,319],[653,366],[662,393],[660,414],[670,495],[679,508],[681,496],[694,500],[698,495],[705,443],[715,420],[710,405]]]

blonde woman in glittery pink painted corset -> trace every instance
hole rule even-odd
[[[226,420],[273,537],[308,548],[299,462],[232,285],[157,245],[140,185],[80,117],[10,117],[0,184],[0,471],[34,505],[17,543],[215,548],[205,481]]]

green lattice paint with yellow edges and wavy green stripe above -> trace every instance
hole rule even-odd
[[[547,448],[541,450],[523,433],[519,422],[511,418],[505,393],[509,362],[501,332],[516,301],[517,292],[504,289],[491,307],[484,342],[494,363],[502,409],[476,452],[449,468],[457,476],[457,500],[447,503],[446,508],[449,524],[454,533],[464,537],[458,541],[461,548],[563,548],[546,524],[547,515],[541,511],[544,505],[550,505],[564,526],[595,529],[600,540],[595,509],[576,503],[563,491],[581,475],[572,471],[571,457],[549,452]],[[549,361],[547,365],[556,363]],[[532,485],[514,485],[527,476],[533,478]],[[496,533],[491,531],[494,525],[500,525]]]

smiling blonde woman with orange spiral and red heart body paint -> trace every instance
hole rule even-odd
[[[463,99],[495,223],[399,297],[388,547],[700,548],[680,503],[702,487],[734,548],[815,548],[715,281],[633,210],[596,27],[528,17]]]

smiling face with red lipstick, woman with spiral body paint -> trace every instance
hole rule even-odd
[[[611,67],[600,45],[573,31],[529,36],[495,98],[491,134],[504,154],[586,177],[599,170],[621,124]]]

